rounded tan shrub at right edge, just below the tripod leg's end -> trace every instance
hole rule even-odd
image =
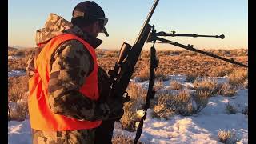
[[[247,70],[234,70],[228,76],[228,82],[233,86],[241,85],[248,79]]]

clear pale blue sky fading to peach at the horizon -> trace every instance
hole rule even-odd
[[[72,10],[81,0],[9,0],[8,45],[35,46],[35,31],[41,29],[50,13],[70,21]],[[154,0],[94,0],[105,11],[110,37],[99,48],[119,50],[122,42],[133,45]],[[158,31],[177,34],[224,34],[225,38],[170,37],[174,42],[192,44],[198,49],[248,48],[248,1],[246,0],[160,0],[150,20]],[[146,43],[145,49],[152,46]],[[178,49],[156,44],[157,49]]]

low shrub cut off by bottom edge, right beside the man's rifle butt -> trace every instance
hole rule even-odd
[[[132,139],[130,136],[114,134],[112,138],[112,143],[113,144],[133,144],[134,139]],[[138,142],[138,144],[142,144],[142,142]]]

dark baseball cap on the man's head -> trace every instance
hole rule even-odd
[[[101,6],[98,6],[94,1],[85,1],[78,3],[77,6],[74,7],[72,18],[82,17],[85,19],[98,19],[99,22],[102,23],[102,31],[107,37],[109,34],[106,31],[106,23],[108,22],[108,18],[105,18],[105,13],[102,10]]]

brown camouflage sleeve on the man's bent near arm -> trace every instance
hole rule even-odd
[[[77,40],[58,47],[51,60],[48,86],[49,106],[55,114],[88,121],[109,117],[106,103],[91,100],[78,91],[93,64],[89,52]]]

